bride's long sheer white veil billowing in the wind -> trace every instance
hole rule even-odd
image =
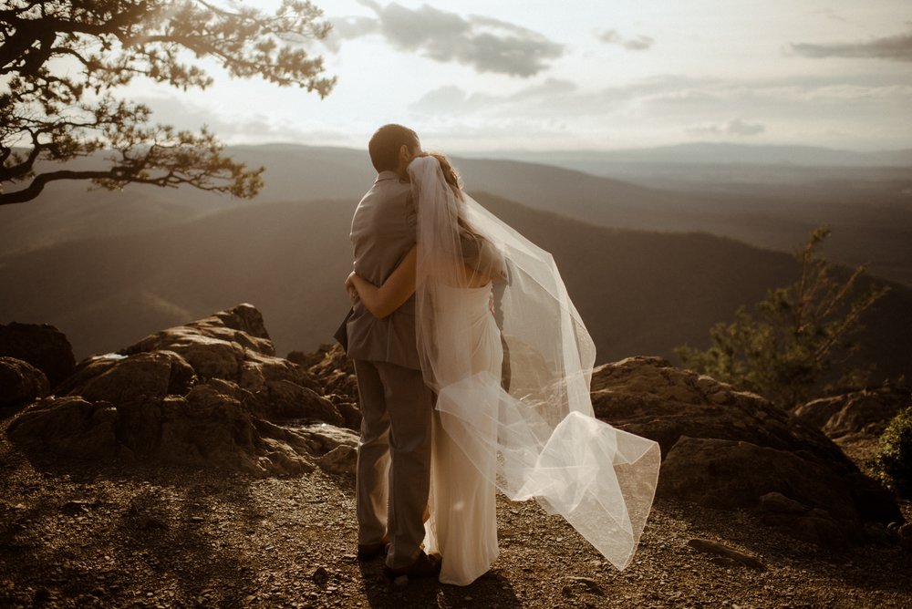
[[[546,511],[560,514],[623,569],[652,505],[658,444],[595,418],[589,396],[595,346],[551,254],[471,197],[460,201],[433,157],[413,160],[409,174],[418,211],[421,369],[438,396],[445,435],[440,445],[457,454],[456,467],[463,459],[483,482],[471,490],[480,497],[432,490],[432,504],[448,504],[431,506],[430,549],[440,547],[446,572],[453,552],[445,540],[440,544],[435,511],[451,509],[454,501],[468,501],[459,507],[471,508],[475,501],[484,512],[476,518],[490,519],[494,528],[493,549],[477,558],[473,569],[483,567],[481,573],[463,573],[461,579],[484,573],[496,557],[496,487],[513,501],[534,498]],[[464,287],[473,272],[495,281],[486,288]],[[439,453],[435,449],[435,456]],[[437,468],[432,475],[462,473]],[[489,546],[490,539],[482,545]]]

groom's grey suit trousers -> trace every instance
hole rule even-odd
[[[420,370],[355,360],[361,398],[358,543],[391,542],[387,565],[413,563],[430,490],[431,392]]]

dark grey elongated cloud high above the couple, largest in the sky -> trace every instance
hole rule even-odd
[[[333,19],[338,39],[379,34],[394,48],[420,53],[441,63],[456,62],[478,72],[532,77],[549,62],[564,55],[564,46],[533,30],[491,17],[443,11],[429,5],[410,9],[396,3],[386,6],[360,0],[377,16]]]

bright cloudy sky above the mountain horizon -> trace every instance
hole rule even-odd
[[[251,2],[264,8],[277,1]],[[155,119],[230,144],[618,150],[685,142],[912,148],[909,0],[314,0],[325,99],[230,79],[131,85]]]

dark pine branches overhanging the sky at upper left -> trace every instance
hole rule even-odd
[[[233,0],[7,0],[0,5],[0,204],[35,199],[51,181],[130,182],[252,197],[263,168],[223,152],[207,129],[150,124],[150,108],[115,90],[145,77],[206,88],[214,59],[232,77],[263,77],[326,97],[336,83],[304,48],[329,25],[309,2],[274,14]],[[100,151],[108,154],[103,162]],[[68,161],[92,157],[73,166]]]

